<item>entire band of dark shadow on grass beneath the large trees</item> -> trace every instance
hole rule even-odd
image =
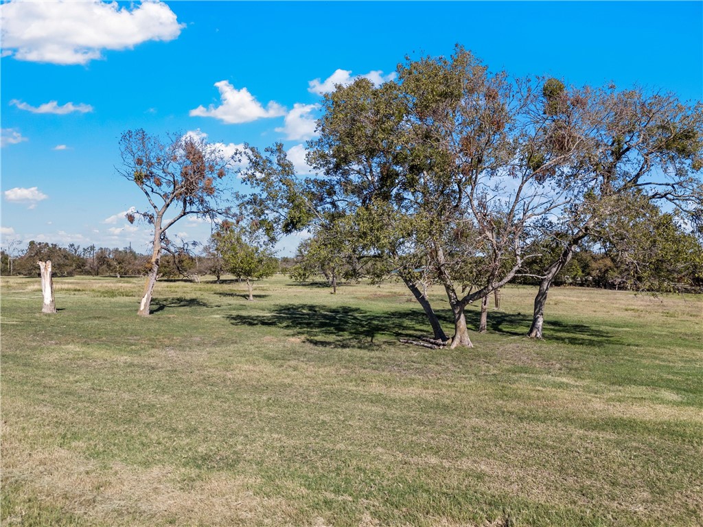
[[[469,311],[466,314],[470,329],[475,331],[479,313]],[[437,315],[451,336],[451,311],[441,310]],[[379,312],[351,306],[288,304],[273,306],[271,311],[260,314],[231,314],[226,319],[233,325],[280,327],[318,346],[364,347],[378,344],[382,337],[418,338],[432,334],[420,308]],[[489,313],[489,332],[492,333],[523,336],[530,323],[531,317],[520,313]],[[546,323],[545,334],[548,339],[575,345],[614,343],[612,334],[583,324]]]

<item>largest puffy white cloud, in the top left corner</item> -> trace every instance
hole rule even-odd
[[[2,6],[0,25],[3,56],[63,65],[86,64],[101,58],[103,49],[173,40],[185,27],[160,1],[146,1],[130,11],[100,0],[13,0]]]

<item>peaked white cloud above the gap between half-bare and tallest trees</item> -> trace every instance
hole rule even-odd
[[[217,108],[211,104],[207,109],[200,105],[191,110],[191,117],[214,117],[226,124],[239,124],[285,115],[283,106],[271,100],[264,108],[246,88],[238,90],[227,81],[216,82],[215,86],[219,90],[222,104]]]

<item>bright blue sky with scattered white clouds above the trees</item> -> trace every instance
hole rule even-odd
[[[406,55],[448,56],[455,44],[494,71],[703,98],[699,1],[12,0],[0,11],[3,247],[146,251],[148,227],[121,216],[145,205],[115,169],[122,131],[193,131],[231,147],[281,141],[302,160],[330,77],[383,82]],[[172,229],[209,236],[188,219]]]

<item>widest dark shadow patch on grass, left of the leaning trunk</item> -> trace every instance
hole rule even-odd
[[[226,318],[234,325],[280,327],[306,337],[315,346],[375,346],[382,337],[408,337],[421,334],[425,323],[422,311],[366,311],[351,306],[288,304],[274,306],[259,315],[233,314]]]

